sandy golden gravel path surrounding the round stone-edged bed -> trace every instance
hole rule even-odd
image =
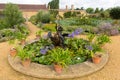
[[[31,31],[27,39],[34,39],[35,32],[39,29],[30,22],[26,24]],[[111,37],[111,40],[112,43],[105,45],[110,58],[103,69],[88,76],[68,80],[120,80],[120,35]],[[0,43],[0,80],[46,80],[26,76],[13,70],[7,61],[11,46],[8,42]]]

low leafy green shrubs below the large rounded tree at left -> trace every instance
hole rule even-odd
[[[0,42],[26,37],[29,30],[25,25],[16,25],[15,29],[0,30]]]

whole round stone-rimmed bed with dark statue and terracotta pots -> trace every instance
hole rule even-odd
[[[56,26],[56,31],[11,49],[10,65],[26,75],[64,79],[88,75],[107,63],[108,54],[102,46],[110,42],[108,36],[89,34],[87,39],[76,38],[82,29],[62,34],[61,26]]]

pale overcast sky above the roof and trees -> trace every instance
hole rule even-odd
[[[51,0],[0,0],[0,3],[17,3],[17,4],[47,4]],[[120,6],[120,0],[60,0],[60,8],[65,8],[66,5],[70,8],[71,5],[75,8],[110,8]]]

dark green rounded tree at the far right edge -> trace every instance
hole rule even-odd
[[[120,19],[120,7],[114,7],[110,10],[110,17],[113,19]]]

